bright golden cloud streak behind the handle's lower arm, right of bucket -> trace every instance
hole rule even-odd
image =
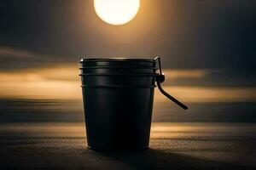
[[[189,102],[254,102],[256,88],[251,87],[188,87],[167,86],[165,90],[181,101]],[[155,99],[164,102],[168,99],[157,90]]]

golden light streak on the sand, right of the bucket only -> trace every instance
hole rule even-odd
[[[183,122],[169,123],[156,122],[151,127],[151,138],[155,139],[189,139],[195,137],[232,136],[245,133],[255,133],[254,123],[210,123],[210,122]]]

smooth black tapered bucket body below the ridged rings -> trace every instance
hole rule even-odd
[[[84,87],[88,146],[96,150],[148,147],[154,88]]]

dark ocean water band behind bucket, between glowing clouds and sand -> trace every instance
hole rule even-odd
[[[153,122],[256,122],[256,102],[155,100]],[[0,99],[0,122],[84,122],[82,99]]]

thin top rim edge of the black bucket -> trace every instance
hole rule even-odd
[[[80,59],[79,62],[97,62],[97,61],[143,61],[143,62],[153,62],[156,61],[154,59],[143,59],[143,58],[86,58],[86,59]]]

